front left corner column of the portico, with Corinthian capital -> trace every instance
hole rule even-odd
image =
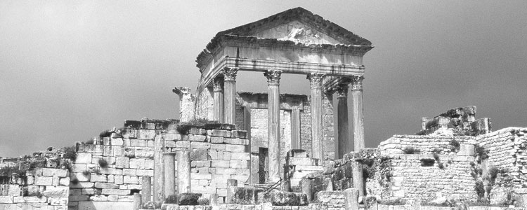
[[[224,109],[225,120],[223,123],[235,124],[236,122],[236,73],[238,68],[225,68],[223,73]]]

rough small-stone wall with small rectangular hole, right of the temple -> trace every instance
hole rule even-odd
[[[379,165],[382,199],[429,200],[441,193],[451,199],[475,201],[470,164],[474,159],[469,155],[389,155]]]

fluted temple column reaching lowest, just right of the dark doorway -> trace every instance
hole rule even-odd
[[[280,75],[282,71],[263,73],[268,86],[267,137],[269,139],[269,181],[280,180]]]

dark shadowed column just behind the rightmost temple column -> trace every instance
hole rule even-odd
[[[337,92],[337,153],[335,159],[341,159],[344,154],[349,153],[351,139],[348,131],[348,84],[339,84],[335,87]]]

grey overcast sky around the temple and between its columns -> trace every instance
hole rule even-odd
[[[298,6],[375,45],[367,147],[457,106],[494,130],[527,127],[527,1],[0,1],[0,156],[178,117],[171,89],[195,90],[195,57],[216,32]],[[261,73],[238,75],[238,90],[266,91]],[[305,76],[280,83],[309,92]]]

